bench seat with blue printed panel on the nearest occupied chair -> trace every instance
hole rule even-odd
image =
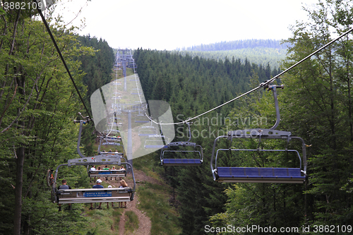
[[[130,202],[131,188],[78,188],[56,191],[58,203],[115,203]]]

